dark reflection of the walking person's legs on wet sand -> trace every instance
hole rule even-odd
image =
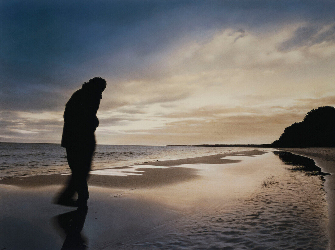
[[[62,250],[87,249],[85,237],[81,234],[87,211],[88,207],[78,207],[77,210],[54,217],[57,228],[66,235]]]

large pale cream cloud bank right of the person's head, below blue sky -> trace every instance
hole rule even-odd
[[[320,58],[313,58],[314,55],[299,49],[277,49],[278,44],[293,35],[294,27],[285,27],[270,34],[226,29],[218,31],[206,42],[181,44],[158,63],[165,65],[163,70],[160,67],[150,68],[150,74],[132,74],[127,81],[108,82],[100,108],[112,110],[139,106],[136,112],[144,114],[146,105],[157,103],[163,109],[173,106],[178,109],[196,102],[198,106],[206,102],[209,102],[207,105],[229,106],[229,101],[234,105],[238,102],[238,95],[240,98],[254,96],[251,102],[259,102],[262,98],[271,101],[280,95],[285,96],[292,93],[294,77],[298,77],[299,81],[303,79],[298,74],[283,81],[285,71],[292,71],[293,68],[302,70],[302,67],[306,70],[320,63]],[[324,56],[325,61],[331,60],[329,58],[329,55]],[[301,88],[302,84],[295,82],[293,88]],[[281,91],[275,88],[281,88]],[[273,95],[270,91],[277,93]],[[222,103],[222,99],[226,99],[227,103]],[[211,103],[215,100],[217,103]]]

